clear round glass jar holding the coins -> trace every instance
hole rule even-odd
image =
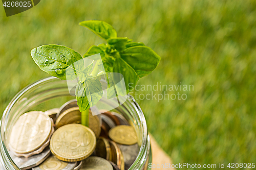
[[[67,82],[55,77],[45,78],[27,86],[12,99],[4,111],[0,125],[1,162],[5,169],[19,169],[8,153],[8,136],[18,117],[31,110],[46,111],[57,108],[72,99],[75,99],[75,96],[70,94]],[[104,99],[99,102],[108,104],[108,101]],[[150,137],[147,134],[145,117],[139,105],[131,95],[128,95],[125,103],[114,111],[122,114],[129,121],[135,128],[139,139],[140,150],[129,170],[150,169],[148,168],[148,163],[152,161]]]

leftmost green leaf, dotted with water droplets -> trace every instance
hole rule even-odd
[[[81,74],[83,61],[80,54],[62,45],[42,45],[31,51],[41,70],[61,80],[74,80]]]

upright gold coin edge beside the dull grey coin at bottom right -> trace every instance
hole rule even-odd
[[[120,148],[114,141],[110,141],[110,148],[112,153],[111,161],[117,164],[120,170],[124,170],[124,159]]]

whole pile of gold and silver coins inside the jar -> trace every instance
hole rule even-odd
[[[93,116],[81,123],[76,100],[45,112],[21,115],[9,137],[10,156],[22,170],[127,170],[139,146],[132,126],[119,113]]]

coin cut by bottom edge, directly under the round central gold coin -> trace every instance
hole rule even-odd
[[[61,161],[52,155],[39,166],[33,167],[32,170],[72,170],[76,165],[77,162]]]

